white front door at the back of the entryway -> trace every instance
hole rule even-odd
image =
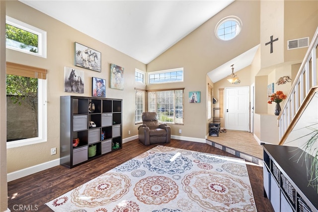
[[[225,128],[249,131],[249,87],[225,90]]]

